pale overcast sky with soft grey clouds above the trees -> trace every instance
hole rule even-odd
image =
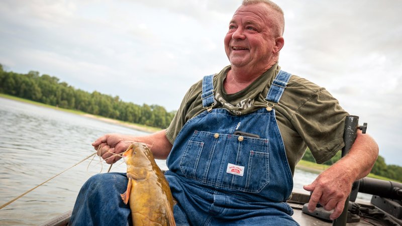
[[[283,70],[326,87],[402,166],[402,1],[276,3]],[[88,92],[175,110],[195,81],[229,64],[223,38],[239,0],[0,1],[0,63]]]

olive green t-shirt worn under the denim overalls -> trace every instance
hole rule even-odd
[[[214,75],[214,108],[225,108],[233,115],[243,115],[266,107],[269,87],[280,67],[272,66],[245,89],[227,94],[223,82],[231,66]],[[181,102],[166,137],[173,144],[177,134],[191,118],[205,111],[202,99],[202,80],[193,84]],[[270,103],[272,106],[272,103]],[[309,147],[317,163],[323,163],[343,148],[343,132],[347,112],[325,88],[304,78],[292,75],[274,106],[287,160],[292,174],[297,162]]]

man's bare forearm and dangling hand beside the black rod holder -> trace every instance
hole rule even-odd
[[[353,182],[370,173],[378,156],[378,145],[368,134],[358,131],[357,138],[349,153],[337,163],[322,172],[313,183],[303,186],[312,191],[309,211],[316,209],[317,203],[325,210],[335,209],[330,218],[338,218],[349,196]]]

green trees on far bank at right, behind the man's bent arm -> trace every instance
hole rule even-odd
[[[332,157],[330,160],[325,162],[325,165],[332,165],[336,163],[340,158],[341,158],[342,152],[336,153],[334,157]],[[303,160],[309,161],[309,162],[316,162],[316,160],[313,157],[313,154],[311,153],[310,149],[307,149],[305,155],[303,156]],[[402,181],[402,167],[397,166],[397,165],[387,165],[385,163],[385,159],[382,156],[378,156],[377,160],[374,163],[373,168],[371,169],[371,173],[378,175],[378,176],[383,176],[383,177],[388,177],[390,179],[394,179],[397,181]]]

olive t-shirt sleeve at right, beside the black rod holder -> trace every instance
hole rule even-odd
[[[338,100],[325,88],[314,92],[295,112],[292,124],[317,163],[328,161],[344,147],[343,132],[347,115]]]

